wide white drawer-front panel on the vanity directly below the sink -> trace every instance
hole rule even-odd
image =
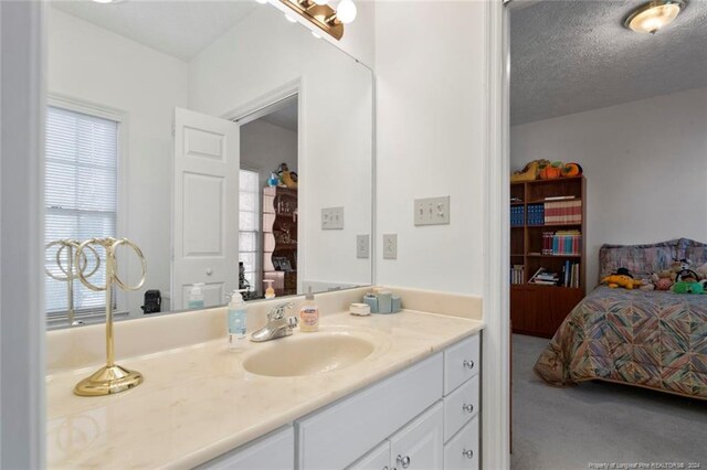
[[[296,423],[298,468],[341,469],[442,398],[442,353]]]

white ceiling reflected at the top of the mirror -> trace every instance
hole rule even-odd
[[[182,61],[190,61],[245,18],[254,1],[53,0],[52,7]]]

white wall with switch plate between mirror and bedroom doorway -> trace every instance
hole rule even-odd
[[[486,21],[484,2],[377,3],[377,246],[398,234],[380,284],[483,292]],[[451,224],[415,227],[437,195]]]

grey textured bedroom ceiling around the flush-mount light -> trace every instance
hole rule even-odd
[[[511,124],[707,86],[707,0],[693,0],[655,35],[622,25],[644,2],[555,0],[511,9]]]

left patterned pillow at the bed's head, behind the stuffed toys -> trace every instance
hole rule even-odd
[[[667,269],[677,258],[679,239],[650,245],[602,245],[599,250],[599,281],[619,268],[627,268],[634,278],[647,279]]]

